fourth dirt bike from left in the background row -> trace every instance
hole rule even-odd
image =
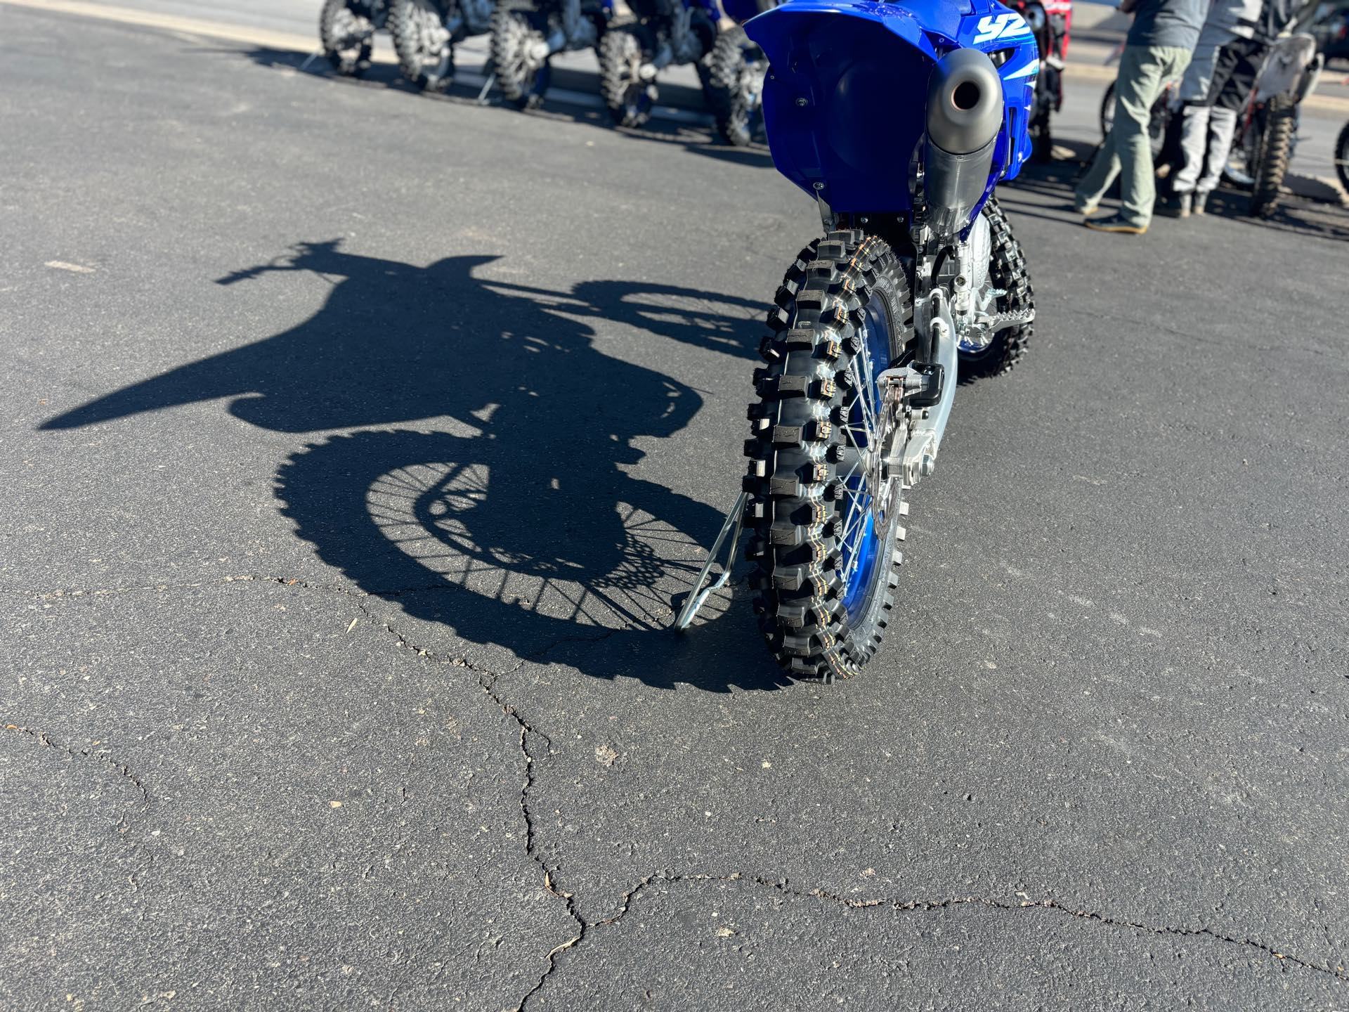
[[[656,105],[656,76],[692,63],[708,97],[707,57],[722,12],[716,0],[629,0],[635,22],[616,26],[599,43],[599,89],[614,124],[639,127]]]

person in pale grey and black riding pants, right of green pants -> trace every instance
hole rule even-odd
[[[1180,84],[1182,165],[1174,184],[1180,217],[1203,213],[1228,161],[1237,113],[1292,15],[1290,0],[1213,0]]]

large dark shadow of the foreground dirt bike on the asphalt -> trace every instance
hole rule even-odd
[[[309,320],[42,428],[231,398],[231,414],[262,429],[340,430],[281,464],[279,510],[326,565],[401,611],[409,640],[494,669],[513,656],[662,688],[786,684],[743,602],[692,636],[669,630],[723,518],[666,487],[708,461],[657,443],[660,467],[643,468],[637,444],[673,437],[703,398],[596,347],[650,362],[668,352],[642,341],[674,340],[747,358],[759,306],[642,282],[552,291],[478,275],[496,259],[417,267],[340,240],[301,244],[219,281],[317,273],[333,289]]]

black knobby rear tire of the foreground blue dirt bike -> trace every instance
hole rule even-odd
[[[831,232],[786,271],[759,345],[768,366],[754,371],[745,555],[755,564],[750,586],[759,630],[777,663],[797,677],[832,681],[857,673],[881,642],[898,586],[894,544],[902,507],[896,488],[870,586],[849,618],[842,468],[851,470],[846,461],[857,455],[844,428],[855,398],[849,366],[863,351],[867,313],[884,313],[892,354],[909,344],[913,300],[904,263],[876,236]]]

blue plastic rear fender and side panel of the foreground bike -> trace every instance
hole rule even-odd
[[[769,58],[773,162],[835,212],[912,209],[909,163],[925,128],[928,78],[952,49],[1006,57],[998,67],[1006,112],[985,198],[1029,155],[1039,53],[1025,22],[998,3],[788,0],[745,31]]]

